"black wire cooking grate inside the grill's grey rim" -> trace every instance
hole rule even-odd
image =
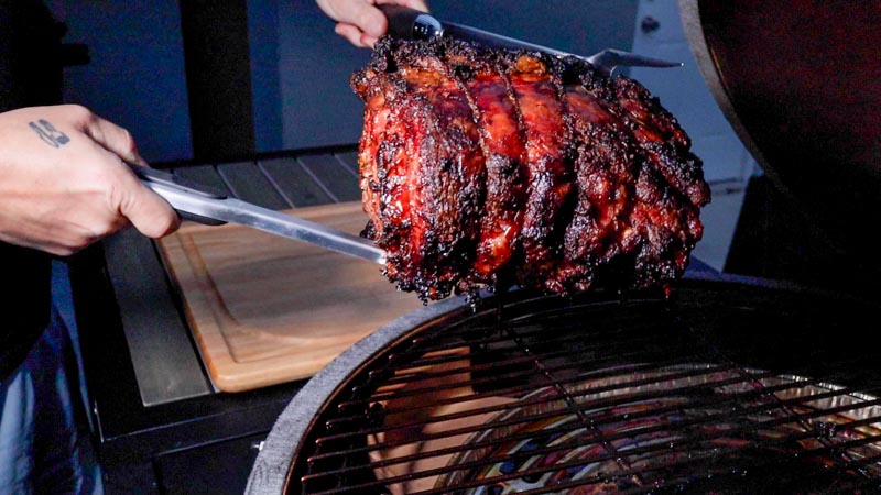
[[[877,391],[740,366],[620,307],[576,309],[465,322],[390,353],[336,404],[302,493],[879,487]]]

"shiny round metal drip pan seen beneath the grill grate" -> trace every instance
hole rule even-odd
[[[877,446],[861,443],[881,431],[849,427],[858,418],[878,418],[878,402],[805,382],[700,365],[650,373],[619,369],[563,397],[540,389],[481,425],[446,463],[475,468],[439,476],[433,487],[467,487],[467,494],[547,487],[704,493],[727,484],[746,493],[769,486],[829,493],[862,485],[863,473],[841,469],[837,458],[862,462],[881,454]],[[835,402],[845,414],[834,413]],[[844,431],[837,431],[839,425]],[[833,446],[844,444],[833,452]],[[879,469],[868,463],[864,474],[875,477]],[[402,482],[392,492],[418,492],[417,485],[425,483]]]

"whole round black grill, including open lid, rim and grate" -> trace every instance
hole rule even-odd
[[[823,289],[693,274],[668,294],[436,304],[359,342],[302,389],[249,492],[881,492],[881,298],[863,283],[878,266],[853,235],[881,211],[878,161],[868,160],[879,156],[881,123],[862,107],[879,101],[879,61],[860,56],[877,46],[863,18],[878,7],[800,6],[682,10],[744,143],[792,201],[816,204],[805,213],[859,273],[842,265]],[[833,28],[816,31],[824,22]],[[798,53],[817,48],[806,38],[822,50]],[[841,77],[818,81],[827,72],[800,64],[831,64]],[[784,79],[794,82],[781,95]],[[867,94],[798,105],[845,89]],[[846,108],[818,113],[835,106]],[[855,118],[842,119],[848,111]]]

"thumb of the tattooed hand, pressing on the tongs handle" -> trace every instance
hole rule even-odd
[[[167,235],[181,224],[181,218],[171,205],[141,184],[128,167],[123,170],[118,196],[119,213],[149,238]]]

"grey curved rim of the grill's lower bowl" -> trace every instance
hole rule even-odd
[[[781,290],[790,295],[809,294],[831,297],[837,300],[850,299],[867,302],[867,300],[850,294],[752,276],[696,272],[687,273],[682,282],[697,289],[701,287],[707,289],[711,287],[727,287],[729,289],[757,287]],[[546,301],[557,301],[557,304],[563,302],[564,306],[573,306],[572,300],[566,301],[558,296],[540,295],[531,292],[518,290],[515,294],[507,296],[504,299],[505,308],[509,306],[532,306]],[[494,307],[491,305],[498,300],[498,297],[490,293],[481,293],[481,304],[486,307]],[[589,302],[608,300],[610,297],[618,296],[601,290],[591,290],[583,296],[578,295],[578,297],[584,297],[584,301]],[[657,297],[661,298],[662,296],[659,295]],[[248,479],[246,494],[274,495],[286,493],[291,484],[291,477],[294,474],[293,461],[303,449],[303,441],[317,422],[320,413],[333,400],[338,391],[351,383],[362,369],[374,362],[378,354],[382,353],[387,348],[407,339],[410,336],[422,332],[426,328],[459,323],[464,317],[472,314],[471,305],[463,297],[453,297],[435,302],[379,328],[328,363],[291,399],[276,419],[254,461]]]

